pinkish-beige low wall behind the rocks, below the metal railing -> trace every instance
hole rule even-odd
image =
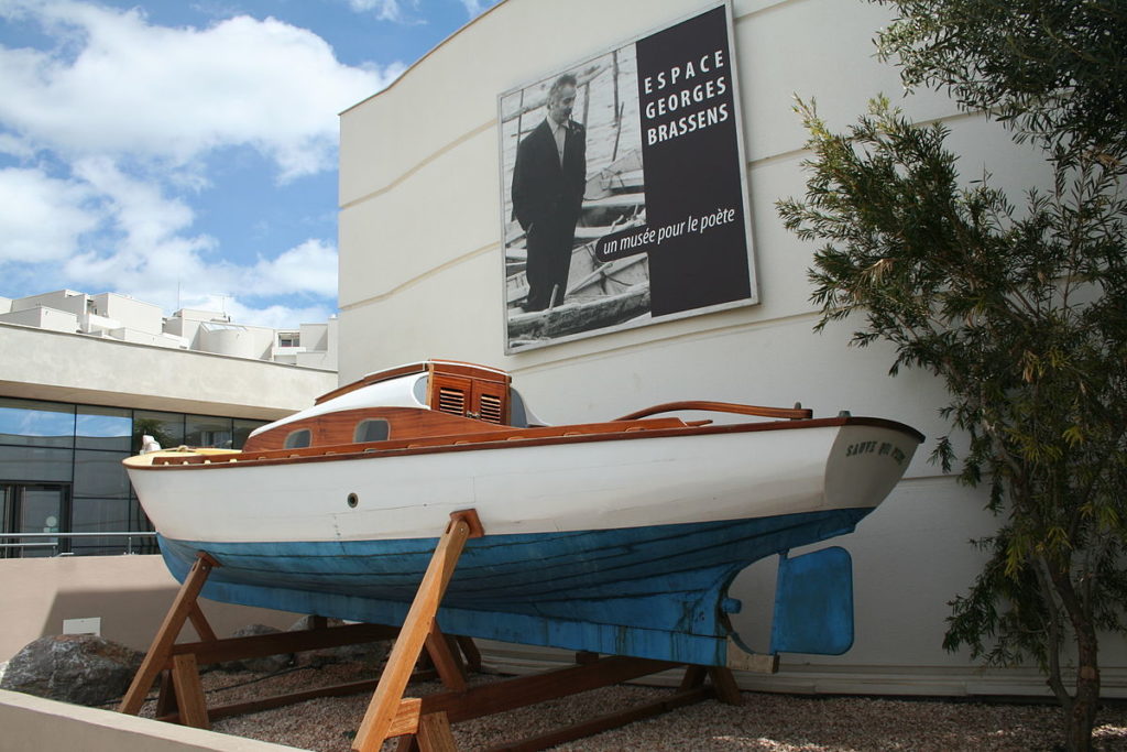
[[[147,651],[179,589],[160,556],[60,556],[0,559],[0,662],[68,619],[100,619],[106,639]],[[287,628],[299,614],[205,599],[199,605],[215,634],[230,637],[248,623]],[[181,642],[196,639],[188,623]]]

